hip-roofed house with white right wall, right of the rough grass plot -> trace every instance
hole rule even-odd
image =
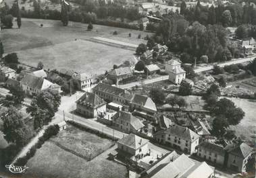
[[[118,140],[118,153],[136,161],[149,152],[148,143],[149,140],[145,138],[129,134]]]

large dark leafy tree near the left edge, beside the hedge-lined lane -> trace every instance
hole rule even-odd
[[[22,114],[14,107],[9,107],[3,116],[3,134],[7,142],[23,146],[28,140],[28,130],[23,122]]]

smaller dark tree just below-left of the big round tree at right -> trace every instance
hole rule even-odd
[[[219,116],[213,120],[211,132],[217,137],[223,137],[228,126],[228,120],[224,116]]]

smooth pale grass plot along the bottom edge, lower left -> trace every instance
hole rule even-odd
[[[74,142],[75,144],[75,142]],[[22,177],[55,177],[55,178],[123,178],[126,167],[107,160],[107,154],[113,149],[103,152],[92,161],[85,161],[76,155],[62,150],[51,142],[45,142],[27,163],[28,170]]]

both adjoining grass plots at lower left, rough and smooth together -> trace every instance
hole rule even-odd
[[[58,141],[70,149],[74,149],[76,152],[90,150],[92,153],[98,152],[100,148],[104,148],[107,142],[111,142],[110,140],[76,128],[71,129],[72,132],[65,130],[59,132],[56,138],[51,139]],[[74,138],[75,136],[78,136],[78,138]],[[107,159],[107,154],[115,148],[116,146],[104,148],[105,152],[99,154],[91,161],[87,161],[82,157],[78,157],[73,152],[64,150],[49,140],[28,161],[27,166],[29,169],[22,177],[123,178],[126,177],[126,167]]]

